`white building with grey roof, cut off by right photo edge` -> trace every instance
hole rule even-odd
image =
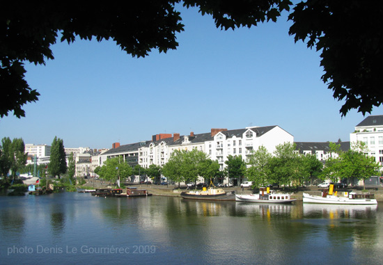
[[[383,115],[370,115],[362,120],[350,134],[350,142],[362,141],[368,147],[368,155],[383,166]]]

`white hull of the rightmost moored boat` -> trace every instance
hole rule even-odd
[[[304,203],[320,203],[320,204],[354,204],[354,205],[368,205],[377,204],[376,199],[350,199],[347,197],[329,196],[322,197],[303,193]]]

